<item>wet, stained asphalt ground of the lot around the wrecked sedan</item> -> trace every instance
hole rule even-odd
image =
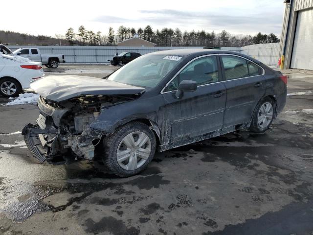
[[[116,68],[61,65],[45,73],[102,77]],[[97,162],[37,164],[18,133],[36,120],[37,107],[0,106],[0,144],[11,144],[0,145],[0,234],[312,235],[313,72],[283,72],[289,93],[306,94],[288,96],[266,133],[158,153],[127,179]]]

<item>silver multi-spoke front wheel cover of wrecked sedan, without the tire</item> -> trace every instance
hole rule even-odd
[[[151,141],[147,134],[135,131],[123,138],[116,151],[118,164],[125,170],[142,166],[151,153]]]

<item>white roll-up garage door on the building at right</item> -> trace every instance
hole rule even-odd
[[[298,13],[290,67],[313,70],[313,9]]]

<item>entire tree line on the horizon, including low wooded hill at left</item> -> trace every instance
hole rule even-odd
[[[251,44],[279,42],[279,39],[273,33],[258,33],[255,36],[231,35],[225,30],[220,33],[215,33],[214,31],[206,32],[204,30],[182,32],[179,28],[162,28],[154,31],[150,25],[137,29],[121,25],[116,32],[112,27],[109,27],[107,35],[104,35],[100,31],[95,33],[92,30],[87,30],[81,25],[78,28],[78,32],[75,32],[73,28],[68,28],[65,35],[55,34],[54,37],[45,35],[34,36],[0,30],[0,43],[28,46],[115,46],[118,42],[132,38],[135,35],[160,47],[243,47]]]

